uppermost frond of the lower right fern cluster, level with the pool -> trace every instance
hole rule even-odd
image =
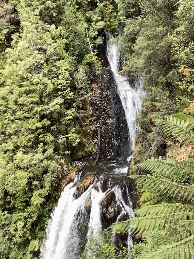
[[[157,176],[161,175],[168,179],[177,179],[184,182],[185,180],[193,183],[194,166],[186,161],[175,161],[173,159],[148,159],[139,164],[145,170],[156,173]]]

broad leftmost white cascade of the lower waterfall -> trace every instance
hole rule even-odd
[[[78,199],[74,198],[77,177],[74,183],[64,188],[58,205],[53,211],[46,229],[46,239],[41,246],[41,259],[74,259],[79,255],[77,227],[84,212],[84,205],[93,185]]]

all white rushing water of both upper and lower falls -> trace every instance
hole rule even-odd
[[[130,135],[129,148],[130,151],[133,151],[138,133],[136,115],[138,110],[141,109],[141,81],[136,80],[134,84],[130,84],[126,76],[119,74],[120,53],[111,38],[111,35],[107,34],[107,58],[125,111]],[[82,165],[85,165],[84,162],[82,162]],[[64,188],[58,200],[58,205],[49,220],[46,237],[41,245],[40,259],[77,259],[84,246],[87,245],[90,236],[95,236],[98,231],[103,229],[101,203],[107,195],[114,193],[116,207],[120,208],[114,222],[117,222],[123,215],[126,215],[127,218],[132,217],[133,210],[129,190],[126,188],[124,197],[118,179],[118,183],[103,192],[100,180],[105,172],[102,171],[101,175],[96,171],[96,180],[79,198],[76,198],[75,194],[81,174],[76,176],[73,183]],[[85,173],[87,173],[87,170],[85,170]],[[109,177],[126,177],[127,167],[111,164],[110,170],[106,171],[106,174]],[[86,211],[88,199],[91,202],[90,213]],[[130,248],[130,244],[129,233],[128,248]]]

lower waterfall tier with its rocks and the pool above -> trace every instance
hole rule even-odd
[[[127,167],[108,162],[100,164],[102,169],[87,160],[79,164],[83,170],[65,186],[51,215],[41,259],[76,259],[91,236],[133,217]],[[130,234],[116,240],[125,246],[131,243]]]

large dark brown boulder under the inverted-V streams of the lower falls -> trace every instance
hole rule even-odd
[[[121,207],[116,201],[116,196],[113,191],[111,191],[105,198],[101,201],[101,217],[104,223],[111,224],[116,221],[119,214],[121,214]]]

